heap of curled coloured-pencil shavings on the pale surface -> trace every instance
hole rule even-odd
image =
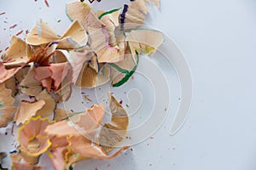
[[[44,169],[38,165],[44,153],[55,169],[73,169],[78,161],[111,159],[129,148],[109,153],[125,139],[129,126],[125,109],[112,94],[112,119],[103,125],[105,105],[82,113],[58,105],[70,98],[73,87],[96,88],[108,81],[121,86],[136,71],[139,55],[156,51],[164,35],[141,28],[148,3],[135,0],[97,13],[86,3],[68,3],[72,24],[63,35],[39,20],[25,41],[12,37],[0,61],[0,127],[15,122],[18,129],[19,146],[10,152],[12,169]],[[158,0],[153,3],[159,6]],[[6,156],[1,154],[0,165]]]

